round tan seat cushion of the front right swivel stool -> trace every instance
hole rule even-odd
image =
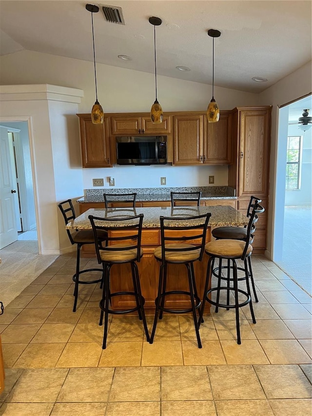
[[[224,239],[210,241],[205,245],[205,252],[216,257],[241,257],[245,249],[246,242],[240,240]],[[253,246],[248,245],[247,255],[253,251]]]

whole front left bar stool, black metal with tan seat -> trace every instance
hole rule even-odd
[[[140,320],[143,320],[144,331],[147,341],[150,340],[146,318],[144,313],[145,299],[141,294],[141,286],[139,280],[139,274],[137,269],[137,262],[143,256],[143,250],[141,248],[141,234],[142,234],[142,221],[143,214],[124,217],[124,218],[101,218],[89,215],[92,230],[94,233],[94,239],[98,242],[96,244],[98,264],[102,264],[103,267],[103,296],[99,302],[101,309],[101,315],[99,325],[103,324],[104,317],[104,334],[102,349],[106,348],[107,341],[107,329],[108,329],[108,315],[109,314],[129,314],[137,311]],[[121,230],[122,236],[114,236],[111,230]],[[105,247],[102,246],[101,239],[98,239],[101,231],[107,230],[107,241],[111,242],[111,245]],[[122,241],[122,242],[118,242]],[[132,280],[134,291],[123,291],[112,293],[110,290],[110,270],[114,264],[131,264]],[[131,309],[125,309],[122,311],[114,311],[110,309],[110,301],[114,296],[131,295],[136,299],[136,307]]]

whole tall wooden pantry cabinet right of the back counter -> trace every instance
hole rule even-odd
[[[233,163],[229,186],[236,189],[237,209],[246,213],[251,196],[262,199],[254,249],[267,247],[266,228],[269,197],[269,167],[272,106],[240,107],[233,111]]]

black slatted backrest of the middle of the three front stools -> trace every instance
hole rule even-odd
[[[160,237],[161,237],[161,260],[165,263],[166,253],[168,252],[192,252],[200,248],[199,260],[202,259],[205,243],[207,226],[211,213],[197,215],[193,217],[160,217]],[[197,230],[193,233],[185,231]],[[174,233],[173,233],[174,231]],[[174,235],[173,235],[174,234]],[[187,234],[187,235],[186,235]],[[194,240],[197,240],[194,243]],[[168,245],[169,244],[169,245]],[[170,244],[189,244],[191,247],[170,247]],[[195,245],[196,244],[196,245]]]

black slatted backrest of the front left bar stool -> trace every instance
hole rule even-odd
[[[143,214],[124,218],[103,218],[89,215],[88,218],[90,219],[94,240],[96,241],[95,246],[99,264],[102,262],[100,256],[101,251],[137,250],[136,261],[140,261],[143,217]],[[99,230],[108,232],[106,239],[108,246],[106,247],[102,246],[102,243],[98,238]],[[112,234],[110,233],[111,230],[122,231],[122,233],[120,233],[120,235]],[[120,247],[118,243],[124,243],[124,247]],[[114,248],[114,244],[118,244],[118,247]]]

